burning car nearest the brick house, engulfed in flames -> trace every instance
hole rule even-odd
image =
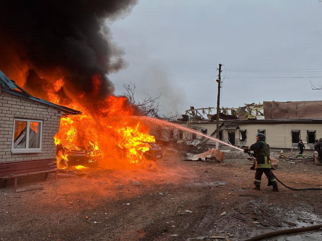
[[[67,150],[62,145],[57,145],[56,157],[59,161],[59,166],[85,166],[98,167],[100,164],[101,153],[98,148],[89,146],[87,149],[78,147],[78,150]]]

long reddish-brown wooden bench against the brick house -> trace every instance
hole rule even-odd
[[[16,191],[18,177],[45,173],[44,180],[46,180],[49,173],[55,173],[55,182],[57,182],[57,172],[61,170],[57,168],[55,158],[0,162],[0,180],[4,180],[2,187],[5,187],[7,179],[14,178],[14,191]]]

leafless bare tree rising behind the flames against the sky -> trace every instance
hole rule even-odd
[[[160,99],[162,92],[156,97],[152,97],[151,95],[146,94],[146,97],[142,98],[142,100],[137,100],[134,97],[135,89],[137,88],[135,82],[130,82],[129,84],[123,83],[123,88],[125,89],[125,91],[122,94],[128,98],[130,103],[137,105],[145,116],[150,116],[167,121],[177,121],[177,119],[179,118],[178,112],[171,112],[167,114],[161,113],[162,110],[160,109],[158,100]]]

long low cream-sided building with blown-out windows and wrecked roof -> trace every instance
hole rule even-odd
[[[297,148],[300,139],[307,149],[313,149],[316,139],[322,137],[322,101],[305,102],[264,102],[264,118],[247,119],[247,114],[236,120],[220,120],[219,139],[243,147],[256,141],[257,133],[266,135],[271,148]],[[220,116],[222,117],[222,116]],[[216,136],[215,118],[181,121],[181,125],[195,129],[207,136]],[[195,139],[215,145],[215,141],[201,135],[176,129],[178,142],[191,143]]]

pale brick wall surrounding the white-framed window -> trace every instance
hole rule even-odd
[[[55,158],[53,136],[59,130],[62,111],[0,91],[0,162]],[[13,154],[11,152],[14,118],[43,121],[42,153]]]

